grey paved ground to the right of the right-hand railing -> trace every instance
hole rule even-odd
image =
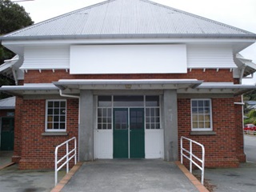
[[[240,163],[238,168],[205,170],[206,180],[215,186],[214,192],[256,191],[256,135],[245,135],[245,152],[248,162]]]

